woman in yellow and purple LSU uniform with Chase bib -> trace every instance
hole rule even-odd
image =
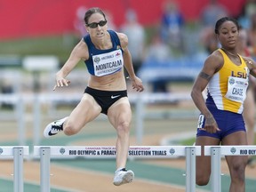
[[[196,156],[196,184],[207,185],[211,175],[211,156],[204,156],[204,146],[247,145],[243,103],[248,76],[256,76],[256,63],[236,52],[239,25],[228,17],[216,22],[215,34],[221,48],[212,52],[196,78],[191,97],[201,112],[196,145],[202,156]],[[203,93],[207,88],[207,99]],[[226,156],[231,183],[230,192],[244,192],[244,170],[247,156]]]

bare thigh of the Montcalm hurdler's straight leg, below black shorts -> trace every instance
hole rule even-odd
[[[132,109],[127,97],[123,97],[108,108],[108,119],[116,128],[120,123],[127,123],[130,125],[132,121]]]

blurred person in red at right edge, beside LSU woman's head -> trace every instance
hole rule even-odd
[[[248,29],[249,33],[249,45],[250,52],[252,53],[252,57],[256,57],[256,12],[254,12],[251,16],[250,20],[250,28]]]

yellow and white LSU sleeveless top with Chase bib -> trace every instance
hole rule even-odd
[[[209,81],[206,99],[207,106],[215,106],[220,110],[227,110],[242,114],[246,90],[249,84],[250,70],[240,56],[241,65],[237,66],[228,55],[219,49],[224,59],[220,70]]]

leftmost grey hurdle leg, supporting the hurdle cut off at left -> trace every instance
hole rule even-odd
[[[13,191],[23,192],[23,148],[13,148]]]

